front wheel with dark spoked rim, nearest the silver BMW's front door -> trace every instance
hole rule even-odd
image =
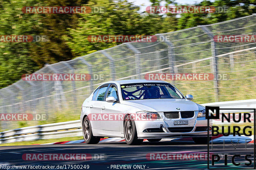
[[[135,122],[131,115],[128,115],[124,120],[124,139],[129,145],[139,145],[143,142],[143,139],[138,139]]]

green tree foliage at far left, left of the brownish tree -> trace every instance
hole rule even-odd
[[[24,1],[0,1],[0,35],[39,34],[36,16],[25,16],[22,6]],[[38,26],[40,27],[40,26]],[[34,72],[39,67],[32,60],[28,43],[0,42],[0,88],[14,83],[27,72]]]

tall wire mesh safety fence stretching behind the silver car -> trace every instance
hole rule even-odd
[[[195,102],[255,99],[256,41],[216,41],[218,35],[255,35],[256,15],[157,34],[73,60],[45,65],[37,74],[90,74],[88,81],[24,81],[0,90],[0,113],[46,113],[48,121],[1,121],[0,131],[79,119],[81,105],[102,82],[147,74],[212,74],[213,79],[166,80]],[[226,75],[227,78],[223,78]],[[222,77],[220,77],[222,76]]]

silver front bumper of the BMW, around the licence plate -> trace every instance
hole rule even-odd
[[[163,115],[161,115],[163,117]],[[176,120],[188,120],[187,125],[174,125],[174,121]],[[195,114],[192,118],[187,119],[155,119],[155,120],[141,120],[135,121],[137,135],[139,139],[154,139],[154,138],[179,138],[179,137],[207,137],[207,130],[199,130],[197,127],[207,128],[207,119],[205,117],[198,117]],[[212,127],[212,120],[209,120],[209,126]],[[152,129],[152,130],[148,130]],[[159,129],[159,130],[157,130]],[[172,130],[174,129],[174,130]],[[178,132],[173,132],[175,129]],[[182,129],[185,132],[182,132]],[[157,131],[157,132],[156,132]],[[171,132],[172,131],[172,132]],[[177,131],[177,130],[176,130]],[[209,131],[209,135],[211,136],[212,132]]]

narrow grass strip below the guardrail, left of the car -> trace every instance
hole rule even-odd
[[[13,143],[0,144],[0,146],[47,144],[47,143],[52,143],[52,142],[64,142],[64,141],[81,140],[81,139],[83,139],[82,136],[80,136],[80,137],[63,137],[63,138],[57,138],[57,139],[42,139],[42,140],[35,140],[35,141],[13,142]]]

